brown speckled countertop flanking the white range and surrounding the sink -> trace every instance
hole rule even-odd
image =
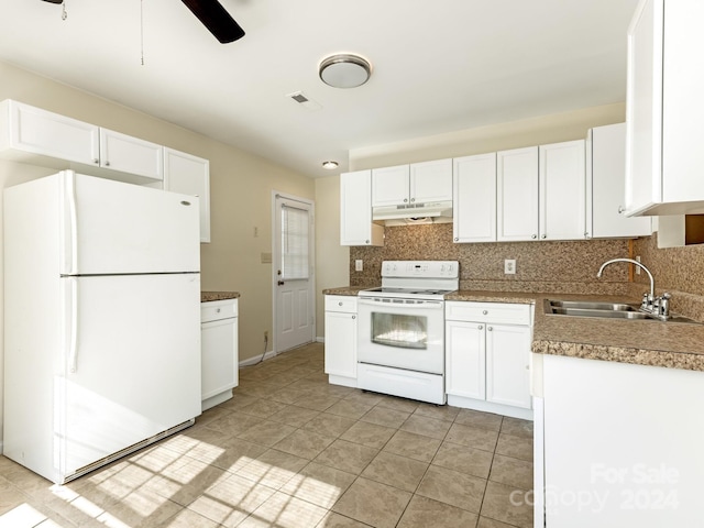
[[[323,290],[326,295],[356,295],[363,287]],[[535,304],[532,352],[638,365],[704,371],[704,324],[652,320],[618,320],[546,315],[549,299],[628,301],[609,295],[458,290],[446,300]]]

